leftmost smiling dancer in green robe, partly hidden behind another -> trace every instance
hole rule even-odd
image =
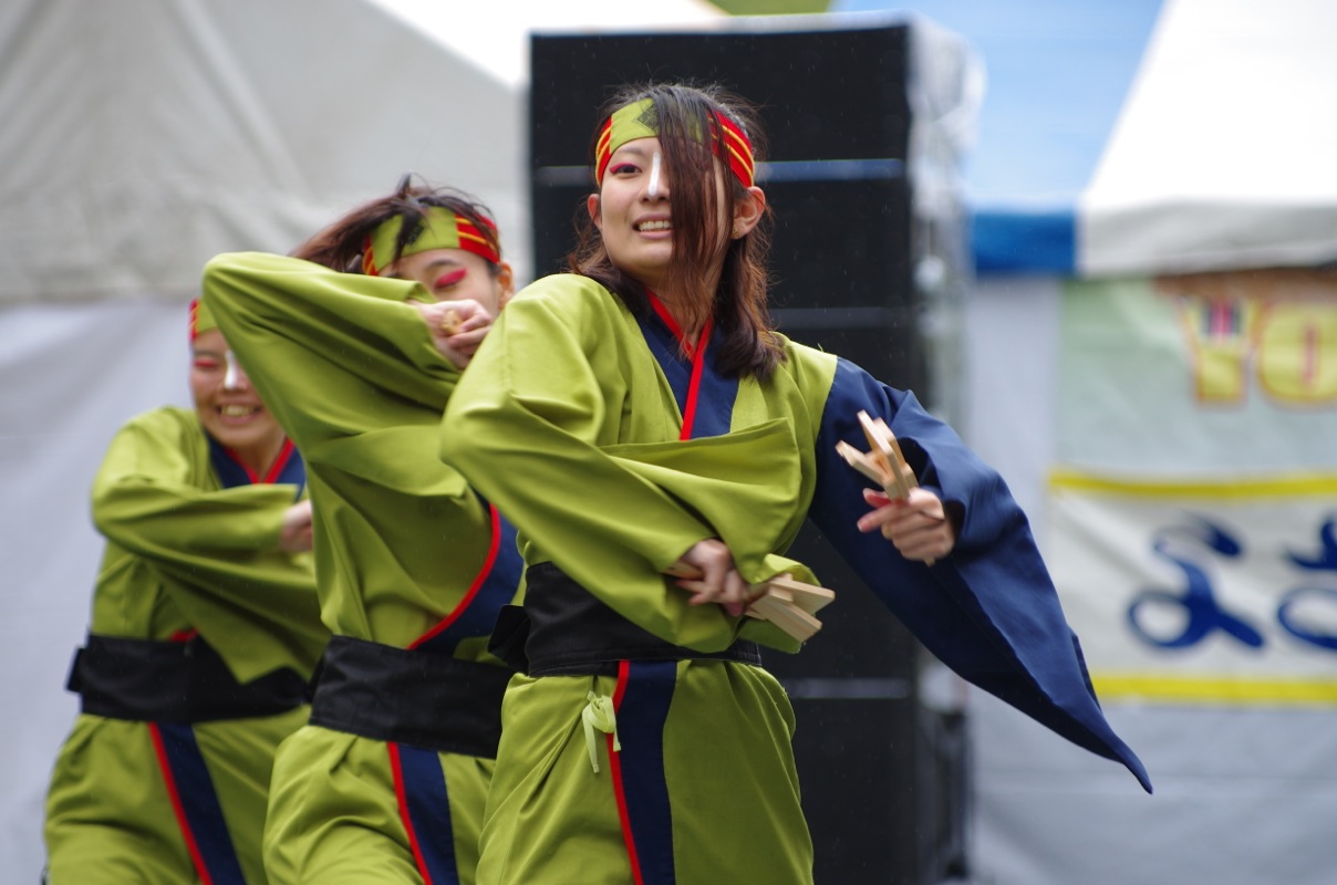
[[[329,638],[302,459],[198,303],[190,330],[195,408],[132,418],[94,481],[107,544],[47,797],[52,885],[265,882],[274,751]]]

